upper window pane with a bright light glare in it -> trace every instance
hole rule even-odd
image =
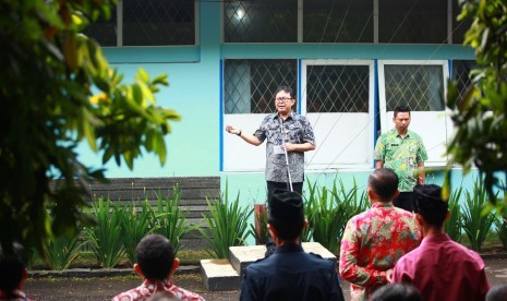
[[[226,43],[298,41],[298,0],[225,1]]]

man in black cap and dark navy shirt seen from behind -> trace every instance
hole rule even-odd
[[[277,249],[246,267],[240,300],[343,300],[336,264],[307,254],[299,234],[307,225],[301,195],[275,190],[268,229]]]

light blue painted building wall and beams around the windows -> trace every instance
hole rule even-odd
[[[152,155],[134,162],[131,171],[113,160],[106,165],[109,178],[220,176],[222,191],[226,183],[230,195],[241,193],[244,204],[265,200],[264,172],[224,172],[225,135],[221,99],[221,64],[224,59],[369,59],[369,60],[451,60],[473,59],[473,51],[459,45],[397,45],[397,44],[222,44],[220,1],[198,3],[198,34],[196,46],[120,47],[104,48],[112,67],[134,79],[143,67],[152,76],[169,74],[169,87],[157,94],[160,106],[171,108],[182,120],[171,122],[172,133],[166,137],[168,157],[165,166]],[[258,123],[261,122],[261,118]],[[227,134],[227,133],[226,133]],[[317,137],[319,140],[319,137]],[[251,146],[252,152],[264,152]],[[373,146],[372,146],[373,147]],[[83,144],[80,148],[85,164],[99,167],[100,157]],[[311,181],[329,184],[336,177],[351,184],[354,180],[365,185],[371,168],[347,170],[312,170]],[[442,184],[442,172],[435,172],[428,182]],[[460,170],[452,172],[456,184],[464,182]]]

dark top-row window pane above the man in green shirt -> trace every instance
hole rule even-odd
[[[378,41],[442,44],[447,39],[447,1],[378,1]]]

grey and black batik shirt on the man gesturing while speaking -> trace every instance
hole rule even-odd
[[[287,160],[285,153],[276,154],[275,148],[286,143],[311,143],[315,145],[315,136],[309,120],[301,115],[291,112],[282,121],[278,113],[267,116],[254,135],[261,141],[266,140],[266,181],[287,183]],[[304,152],[288,152],[289,168],[292,182],[303,182]]]

